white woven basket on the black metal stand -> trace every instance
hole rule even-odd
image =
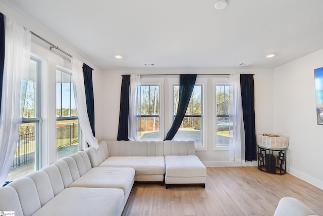
[[[267,149],[286,149],[289,137],[275,134],[257,134],[257,145]]]

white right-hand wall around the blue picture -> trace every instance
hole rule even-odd
[[[274,132],[290,137],[287,171],[323,189],[323,125],[317,125],[314,69],[323,50],[274,69]]]

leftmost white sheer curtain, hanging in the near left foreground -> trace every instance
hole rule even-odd
[[[5,65],[0,115],[0,186],[12,166],[19,138],[20,86],[30,62],[31,34],[23,26],[5,17]]]

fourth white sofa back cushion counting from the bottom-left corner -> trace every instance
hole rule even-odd
[[[64,183],[60,169],[55,165],[49,165],[43,167],[41,170],[45,171],[48,175],[54,196],[61,193],[64,190]]]

